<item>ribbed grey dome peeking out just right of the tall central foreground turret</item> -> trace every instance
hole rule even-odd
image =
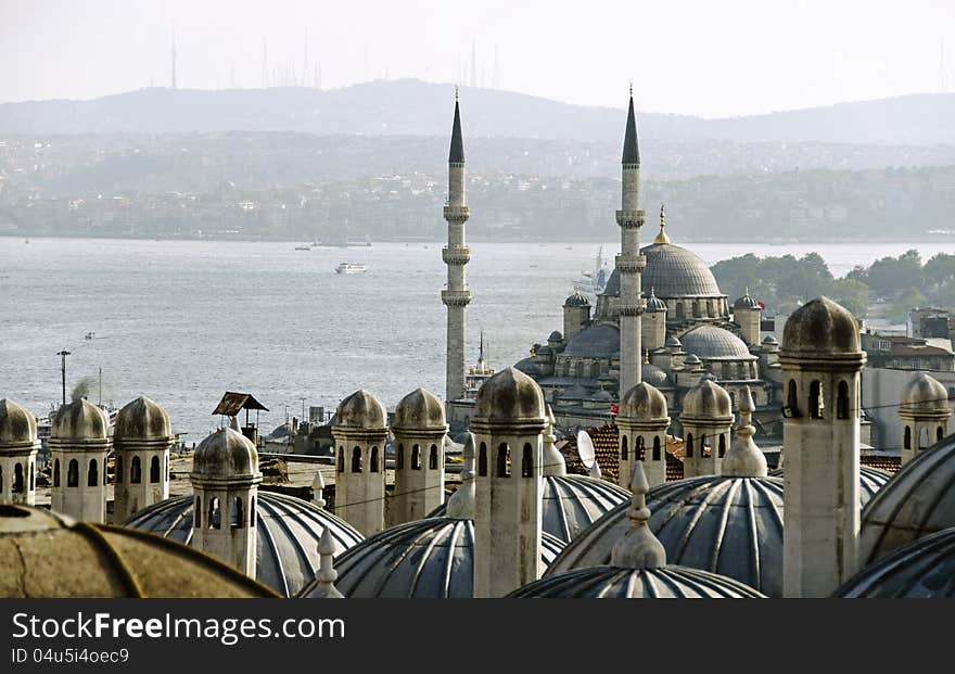
[[[594,522],[627,501],[631,493],[620,485],[588,475],[545,475],[540,497],[540,522],[545,534],[566,543]],[[445,517],[447,504],[429,514]]]

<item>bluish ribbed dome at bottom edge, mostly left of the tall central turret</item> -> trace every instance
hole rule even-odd
[[[542,535],[540,572],[563,543]],[[470,599],[474,596],[474,522],[426,518],[385,529],[335,559],[346,597]],[[300,597],[311,597],[313,581]]]

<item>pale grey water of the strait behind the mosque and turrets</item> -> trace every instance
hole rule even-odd
[[[443,397],[446,279],[438,243],[295,251],[293,243],[0,237],[0,397],[46,416],[88,378],[90,399],[147,395],[198,442],[225,391],[253,393],[269,432],[306,405],[333,408],[365,387],[390,408],[424,386]],[[472,243],[468,360],[484,329],[494,367],[561,329],[561,305],[598,244]],[[833,275],[909,247],[951,244],[688,244],[708,263],[816,251]],[[608,256],[617,244],[607,244]],[[341,276],[341,262],[368,274]],[[94,339],[86,340],[89,332]]]

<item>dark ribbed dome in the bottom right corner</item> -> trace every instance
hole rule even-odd
[[[866,567],[836,597],[955,598],[955,529],[930,534]]]

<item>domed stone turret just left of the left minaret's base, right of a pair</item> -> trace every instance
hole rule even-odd
[[[444,503],[444,406],[430,391],[418,389],[395,407],[395,491],[393,524],[423,520]]]

